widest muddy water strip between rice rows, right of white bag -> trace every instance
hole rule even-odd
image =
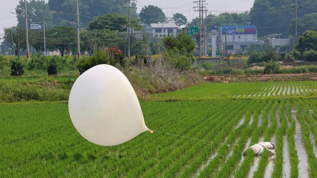
[[[294,139],[295,139],[295,148],[297,150],[297,156],[299,159],[299,165],[298,165],[298,173],[300,175],[301,178],[305,178],[308,177],[308,157],[303,145],[303,138],[302,138],[302,133],[301,133],[301,126],[297,121],[296,118],[296,110],[292,110],[291,111],[292,114],[292,118],[295,120],[295,135],[294,135]]]

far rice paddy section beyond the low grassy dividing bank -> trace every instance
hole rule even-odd
[[[316,88],[316,81],[208,83],[151,97],[154,100],[312,98],[316,96]]]

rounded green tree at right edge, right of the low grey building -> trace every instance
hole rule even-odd
[[[300,51],[302,54],[304,51],[313,49],[317,51],[317,32],[312,30],[307,30],[298,39],[298,44],[295,49]]]

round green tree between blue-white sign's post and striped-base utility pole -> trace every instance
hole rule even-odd
[[[77,47],[77,30],[73,26],[55,26],[48,31],[46,48],[48,51],[60,51],[64,56],[65,51],[74,51]]]

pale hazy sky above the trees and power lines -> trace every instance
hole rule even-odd
[[[48,2],[48,0],[45,0]],[[79,0],[81,1],[81,0]],[[197,0],[195,0],[197,1]],[[16,17],[14,14],[10,12],[15,12],[15,7],[18,4],[19,0],[10,0],[5,1],[3,0],[2,6],[0,7],[0,38],[3,35],[3,28],[4,27],[11,27],[16,25]],[[193,0],[138,0],[137,2],[137,11],[138,13],[142,9],[142,6],[145,5],[155,5],[159,6],[160,8],[164,8],[163,12],[166,16],[171,17],[172,13],[181,13],[187,17],[188,20],[192,19],[193,17],[198,16],[198,13],[193,10],[192,7],[197,6],[197,4],[192,3]],[[245,11],[250,10],[253,6],[254,0],[206,0],[208,3],[207,9],[212,11],[212,14],[220,14],[221,12],[230,12],[230,11]],[[220,9],[221,7],[221,9]],[[216,10],[218,12],[216,12]],[[13,17],[13,18],[8,18]],[[8,18],[8,19],[3,19]]]

